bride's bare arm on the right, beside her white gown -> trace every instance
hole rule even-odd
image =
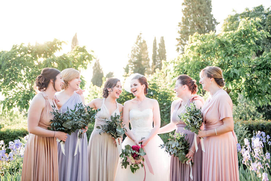
[[[158,130],[161,126],[161,118],[160,118],[160,109],[159,109],[159,104],[157,100],[153,100],[154,105],[153,105],[153,128],[151,129],[150,135],[143,139],[142,141],[142,146],[146,146],[147,143],[158,133]]]

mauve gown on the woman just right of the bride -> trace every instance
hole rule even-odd
[[[191,100],[188,101],[186,106],[190,106]],[[190,130],[184,130],[183,128],[186,124],[180,120],[180,114],[185,113],[185,107],[183,109],[179,109],[182,101],[176,105],[175,109],[173,110],[171,116],[171,122],[176,124],[176,133],[185,133],[185,139],[188,140],[189,146],[191,147],[194,144],[194,132]],[[198,152],[195,152],[193,157],[194,165],[192,166],[192,174],[193,174],[193,181],[201,181],[201,165],[202,165],[202,151],[201,145],[198,144]],[[170,162],[170,181],[191,181],[190,178],[190,166],[186,163],[182,163],[179,161],[178,157],[171,156]]]

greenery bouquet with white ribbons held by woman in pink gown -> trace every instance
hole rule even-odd
[[[194,103],[191,103],[190,106],[186,106],[185,108],[186,112],[179,115],[179,118],[183,120],[183,122],[186,124],[184,127],[185,130],[191,130],[195,133],[194,135],[194,143],[196,152],[198,151],[198,143],[197,143],[197,134],[199,134],[200,127],[203,123],[203,117],[201,113],[201,109],[198,109]],[[203,144],[203,138],[201,139],[201,149],[203,152],[205,152],[204,144]]]

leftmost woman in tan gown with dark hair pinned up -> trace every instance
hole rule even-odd
[[[56,137],[66,141],[67,134],[48,130],[55,93],[61,91],[63,80],[59,70],[44,68],[36,78],[41,91],[31,101],[27,125],[29,138],[25,146],[21,181],[58,181]]]

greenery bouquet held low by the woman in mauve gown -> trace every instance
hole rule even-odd
[[[165,152],[174,157],[178,157],[182,163],[189,164],[190,166],[190,178],[193,180],[192,166],[194,163],[192,161],[188,162],[189,158],[185,157],[189,152],[189,143],[185,139],[184,133],[175,133],[175,135],[169,133],[169,139],[166,143],[160,145],[161,149],[165,148]]]

